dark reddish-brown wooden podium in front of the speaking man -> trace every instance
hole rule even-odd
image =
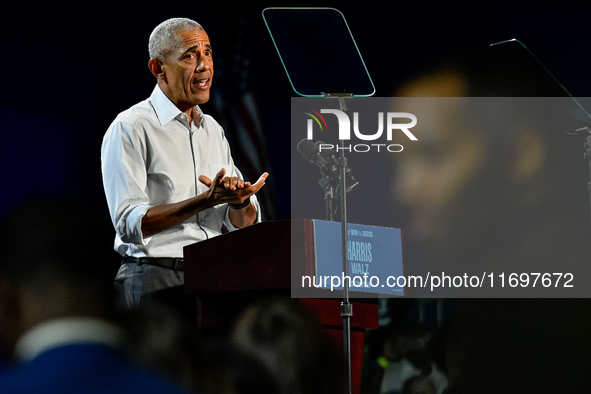
[[[259,297],[289,297],[292,280],[297,285],[298,275],[311,274],[311,222],[263,222],[186,246],[185,292],[196,295],[197,325],[227,327]],[[340,300],[300,299],[299,302],[318,317],[342,347]],[[365,329],[378,328],[378,313],[375,299],[352,304],[352,386],[353,392],[359,393]]]

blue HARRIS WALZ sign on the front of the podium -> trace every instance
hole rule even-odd
[[[400,229],[348,224],[347,278],[343,273],[341,223],[314,220],[313,224],[314,287],[342,290],[344,281],[348,281],[351,291],[404,295],[404,288],[396,281],[404,274]]]

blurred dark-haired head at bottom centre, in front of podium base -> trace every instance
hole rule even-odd
[[[262,300],[247,308],[232,343],[270,372],[277,393],[340,394],[346,388],[336,344],[311,312],[292,300]]]

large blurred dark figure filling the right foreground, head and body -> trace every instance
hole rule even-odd
[[[500,288],[503,272],[572,272],[568,294],[584,295],[591,233],[583,140],[561,130],[559,105],[538,106],[535,98],[553,95],[544,81],[496,60],[486,47],[464,48],[396,89],[400,103],[417,100],[424,110],[417,143],[395,163],[405,268],[494,272],[497,291],[481,294],[496,297],[533,294],[519,292],[521,281]],[[589,299],[554,300],[556,289],[540,283],[537,290],[543,299],[455,301],[446,393],[590,390]],[[475,293],[446,293],[466,294]]]

